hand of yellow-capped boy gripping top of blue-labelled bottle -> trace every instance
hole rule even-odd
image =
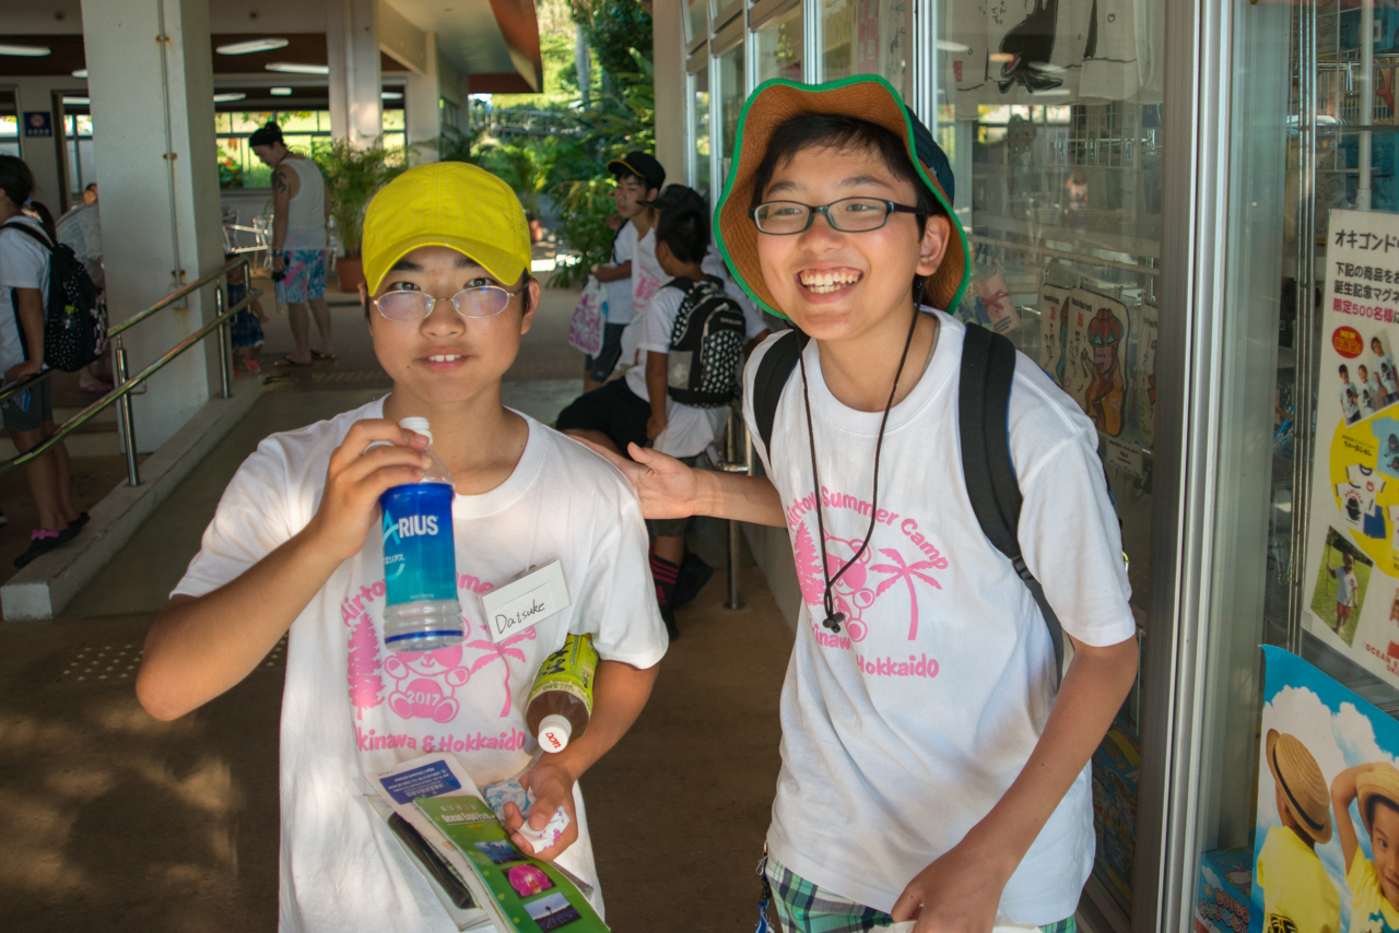
[[[379,446],[367,449],[371,443]],[[358,554],[375,526],[379,497],[422,478],[427,446],[425,436],[388,418],[355,421],[330,455],[320,508],[306,526],[318,547],[341,561]]]

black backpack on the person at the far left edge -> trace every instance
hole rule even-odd
[[[49,294],[43,309],[43,362],[55,369],[77,372],[106,350],[106,298],[92,284],[87,269],[64,243],[50,243],[49,238],[28,224],[4,224],[0,229],[15,229],[35,239],[49,252]],[[15,320],[18,299],[11,292]],[[20,327],[24,347],[24,327]],[[25,357],[29,348],[24,347]]]

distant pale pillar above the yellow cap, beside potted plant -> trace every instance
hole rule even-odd
[[[326,4],[330,133],[360,147],[383,134],[378,15],[378,0],[329,0]]]

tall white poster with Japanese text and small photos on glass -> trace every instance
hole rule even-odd
[[[1329,229],[1302,624],[1399,685],[1399,215]]]

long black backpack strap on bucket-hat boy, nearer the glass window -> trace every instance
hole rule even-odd
[[[957,422],[961,435],[963,474],[977,522],[997,551],[1024,581],[1049,628],[1053,642],[1055,681],[1063,671],[1063,628],[1044,587],[1025,567],[1020,553],[1020,484],[1010,460],[1010,387],[1016,378],[1016,347],[1006,337],[967,325],[963,341]]]

